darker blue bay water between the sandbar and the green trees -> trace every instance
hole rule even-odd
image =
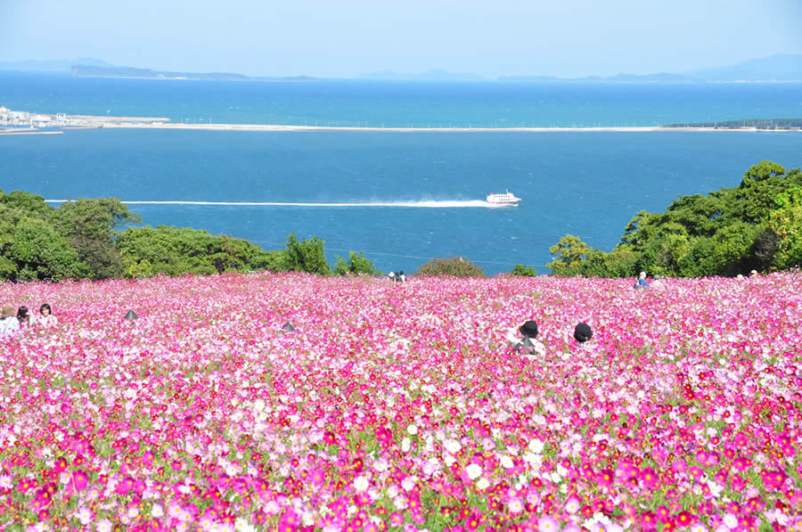
[[[566,233],[610,250],[639,210],[734,186],[759,160],[798,167],[800,153],[795,133],[74,130],[0,136],[0,189],[48,200],[269,202],[131,209],[150,225],[266,249],[290,232],[315,235],[330,261],[363,250],[385,272],[460,255],[491,274],[517,263],[548,273],[548,248]],[[519,207],[477,206],[506,189]]]

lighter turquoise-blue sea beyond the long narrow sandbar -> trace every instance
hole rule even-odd
[[[0,71],[0,105],[174,122],[620,127],[802,117],[800,84],[531,84],[72,78]]]

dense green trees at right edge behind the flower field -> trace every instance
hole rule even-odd
[[[566,235],[552,246],[555,274],[603,277],[640,271],[670,276],[746,274],[802,264],[802,172],[771,161],[741,184],[681,196],[666,212],[639,212],[610,253]]]

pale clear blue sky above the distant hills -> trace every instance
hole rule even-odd
[[[0,61],[611,76],[802,53],[802,0],[0,0]]]

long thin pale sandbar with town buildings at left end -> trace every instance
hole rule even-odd
[[[669,124],[653,127],[347,127],[282,124],[184,124],[167,118],[45,114],[0,107],[0,135],[60,135],[70,129],[150,128],[212,131],[393,131],[393,132],[651,132],[651,131],[802,131],[802,119],[752,119]]]

